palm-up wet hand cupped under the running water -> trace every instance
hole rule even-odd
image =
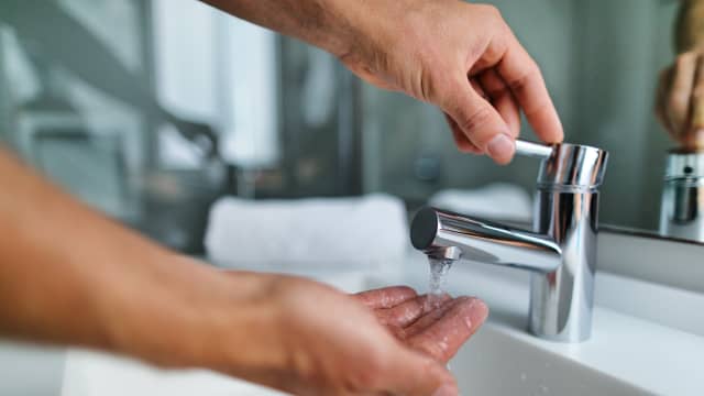
[[[444,362],[487,315],[483,302],[464,297],[444,297],[432,309],[407,287],[351,297],[299,278],[234,276],[261,287],[252,288],[260,292],[250,302],[230,307],[252,312],[233,323],[246,326],[248,339],[235,346],[232,328],[234,342],[221,340],[217,350],[226,353],[216,361],[224,364],[215,369],[294,394],[431,395],[442,387],[441,394],[454,395]]]

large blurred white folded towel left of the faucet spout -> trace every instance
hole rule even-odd
[[[362,198],[222,198],[210,210],[208,258],[258,270],[389,270],[408,249],[403,201]]]

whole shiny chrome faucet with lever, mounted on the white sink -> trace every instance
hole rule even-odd
[[[432,258],[531,271],[529,330],[547,340],[584,341],[592,329],[598,187],[608,153],[525,141],[516,153],[542,160],[532,232],[426,207],[413,221],[411,242]]]

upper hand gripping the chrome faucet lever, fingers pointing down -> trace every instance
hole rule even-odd
[[[537,64],[496,8],[458,0],[380,0],[351,23],[341,61],[363,79],[439,106],[459,148],[501,164],[522,109],[544,142],[563,132]]]

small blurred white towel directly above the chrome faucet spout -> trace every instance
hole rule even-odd
[[[505,183],[477,189],[447,189],[430,197],[430,205],[490,220],[530,221],[532,199],[522,188]]]

